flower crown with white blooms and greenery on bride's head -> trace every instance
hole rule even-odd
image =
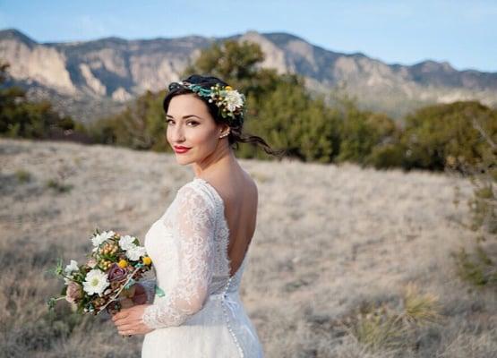
[[[176,90],[179,87],[192,90],[199,97],[209,98],[209,103],[215,103],[219,107],[219,114],[227,118],[229,122],[235,123],[236,120],[239,124],[244,122],[245,96],[243,93],[233,90],[230,86],[221,86],[219,83],[206,89],[188,81],[172,82],[169,90]]]

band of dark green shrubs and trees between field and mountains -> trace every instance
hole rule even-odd
[[[484,156],[482,131],[497,137],[497,110],[476,101],[422,107],[394,121],[360,110],[347,90],[315,95],[296,74],[260,68],[261,47],[227,40],[201,51],[180,77],[219,76],[247,98],[244,132],[304,162],[344,163],[376,168],[442,171],[448,158],[476,165]],[[8,64],[0,63],[0,87]],[[0,90],[0,136],[73,139],[131,149],[172,153],[167,145],[162,99],[166,91],[147,91],[116,115],[84,126],[57,114],[49,103],[32,103],[15,87]],[[478,126],[476,126],[476,122]],[[236,146],[238,158],[273,159],[253,146]]]

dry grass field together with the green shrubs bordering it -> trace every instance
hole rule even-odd
[[[236,147],[260,192],[241,295],[267,356],[493,356],[497,110],[455,102],[396,122],[262,60],[227,41],[182,78],[243,91],[245,131],[286,151],[274,163]],[[45,301],[61,288],[48,272],[58,258],[82,260],[96,227],[142,238],[193,178],[167,145],[164,94],[83,126],[0,89],[0,354],[139,355],[141,337],[119,337],[108,317]],[[94,145],[53,141],[71,138]]]

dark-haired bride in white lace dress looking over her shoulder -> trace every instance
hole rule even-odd
[[[257,186],[232,145],[280,152],[242,135],[244,99],[216,77],[193,75],[169,85],[167,141],[180,165],[193,166],[195,178],[145,236],[157,277],[143,283],[152,303],[113,317],[120,334],[145,335],[142,357],[263,356],[238,294],[256,225]]]

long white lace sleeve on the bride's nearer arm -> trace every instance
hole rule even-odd
[[[178,243],[179,279],[158,303],[148,306],[142,320],[149,328],[179,326],[200,311],[208,295],[214,262],[214,208],[200,192],[178,192],[173,227]]]

